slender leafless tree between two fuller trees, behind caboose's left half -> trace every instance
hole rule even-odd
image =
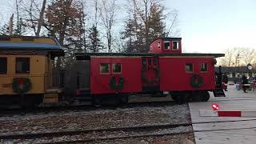
[[[106,31],[105,36],[107,39],[108,52],[111,52],[111,46],[113,42],[113,28],[116,22],[116,16],[118,12],[118,6],[116,0],[102,0],[100,6],[100,18],[102,20],[102,26]]]

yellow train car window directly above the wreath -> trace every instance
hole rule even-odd
[[[16,58],[16,74],[30,74],[30,58]]]

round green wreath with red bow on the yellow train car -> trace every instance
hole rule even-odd
[[[12,89],[17,94],[26,94],[32,88],[30,78],[14,78]]]

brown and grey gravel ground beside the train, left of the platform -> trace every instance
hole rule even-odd
[[[133,108],[117,108],[116,110],[90,110],[90,111],[73,111],[73,112],[59,112],[50,114],[26,114],[14,115],[10,117],[0,118],[0,134],[26,134],[26,133],[42,133],[51,131],[63,131],[63,130],[86,130],[86,129],[98,129],[98,128],[113,128],[124,126],[149,126],[149,125],[164,125],[164,124],[180,124],[189,123],[190,110],[187,104],[183,105],[163,105],[163,106],[142,106]],[[184,130],[184,128],[176,129]],[[186,128],[186,130],[192,130],[192,128]],[[158,130],[162,133],[165,130]],[[118,133],[120,134],[120,133]],[[114,134],[114,135],[118,135]],[[90,137],[95,137],[98,134],[92,134]],[[112,134],[113,135],[113,134]],[[125,133],[121,133],[125,135]],[[128,134],[129,135],[129,134]],[[183,139],[190,139],[194,141],[193,134],[183,134]],[[193,135],[193,136],[192,136]],[[86,135],[88,137],[88,135]],[[175,136],[168,136],[172,139]],[[182,138],[182,136],[180,136]],[[82,136],[65,136],[55,138],[57,141],[68,139],[81,139]],[[54,138],[52,138],[54,139]],[[152,143],[155,138],[144,140],[138,139],[138,142]],[[135,139],[131,139],[134,141]],[[158,139],[158,138],[156,138]],[[161,140],[161,139],[160,139]],[[21,142],[21,140],[5,140],[0,142]],[[22,140],[23,141],[23,140]],[[24,140],[24,142],[48,142],[41,140]],[[128,142],[130,140],[127,140]],[[103,141],[104,143],[105,141]],[[106,143],[115,143],[116,141],[109,141]],[[122,142],[122,139],[120,141]],[[100,142],[101,143],[101,142]],[[134,143],[134,142],[131,142]],[[136,141],[137,143],[137,141]]]

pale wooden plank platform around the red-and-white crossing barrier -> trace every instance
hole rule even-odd
[[[248,93],[243,93],[242,90],[235,90],[234,86],[228,86],[226,98],[214,98],[213,94],[210,95],[210,102],[189,103],[192,122],[202,122],[193,125],[196,143],[254,144],[256,118],[200,117],[198,110],[211,110],[213,103],[218,103],[219,110],[256,110],[256,92],[248,90]]]

